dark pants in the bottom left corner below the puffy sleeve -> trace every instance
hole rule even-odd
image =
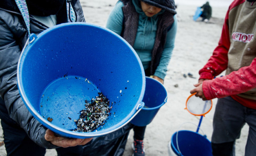
[[[46,149],[34,143],[20,127],[1,120],[7,156],[44,156]]]

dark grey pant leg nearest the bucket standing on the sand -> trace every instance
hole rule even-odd
[[[213,154],[218,153],[218,156],[224,156],[225,153],[228,153],[228,156],[232,155],[233,143],[245,125],[245,110],[245,106],[230,96],[218,99],[213,117]],[[227,148],[223,149],[222,144]]]

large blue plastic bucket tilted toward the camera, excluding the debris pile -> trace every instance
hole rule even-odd
[[[116,33],[88,23],[65,23],[31,34],[18,63],[18,88],[45,127],[62,136],[88,138],[132,120],[144,105],[145,73],[134,49]],[[107,122],[97,131],[73,131],[85,100],[98,92],[113,103]]]

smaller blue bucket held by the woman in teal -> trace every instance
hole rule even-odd
[[[146,126],[152,122],[160,107],[167,101],[167,91],[159,81],[146,76],[146,88],[142,101],[145,106],[131,121],[136,126]]]

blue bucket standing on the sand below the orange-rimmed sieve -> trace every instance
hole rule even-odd
[[[171,149],[178,156],[212,156],[211,142],[199,133],[181,130],[171,136]]]

